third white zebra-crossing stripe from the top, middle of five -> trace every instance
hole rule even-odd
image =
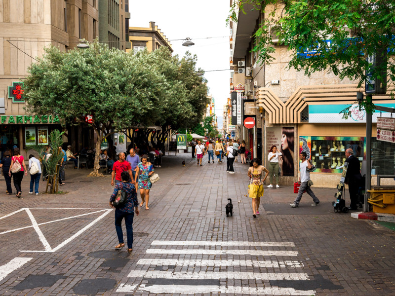
[[[139,259],[140,265],[303,267],[299,261]]]

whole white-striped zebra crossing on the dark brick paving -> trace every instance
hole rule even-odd
[[[128,274],[128,278],[133,284],[121,283],[117,292],[315,295],[315,290],[292,288],[292,281],[298,281],[300,284],[300,281],[310,280],[309,276],[303,272],[303,263],[292,260],[298,256],[298,252],[291,249],[293,247],[295,245],[292,242],[156,240],[151,243],[151,247],[145,252],[147,257],[152,257],[152,254],[155,254],[158,255],[156,257],[168,255],[168,257],[179,258],[139,259],[137,266],[140,269],[131,270]],[[203,256],[209,257],[209,259],[196,259]],[[191,258],[181,259],[188,257]],[[213,257],[220,259],[212,259]],[[275,260],[276,257],[280,257],[281,260]],[[282,257],[289,258],[289,260],[284,260]],[[160,267],[167,270],[160,270]],[[213,271],[213,268],[219,271]],[[169,271],[169,269],[172,271]],[[287,272],[283,272],[284,270]],[[142,279],[144,283],[141,283]],[[248,287],[242,284],[225,285],[222,282],[224,279],[227,282],[230,280],[231,283],[255,281],[257,287]],[[281,281],[286,285],[281,285],[282,287],[271,286],[268,284],[269,281]],[[283,286],[286,286],[286,288]]]

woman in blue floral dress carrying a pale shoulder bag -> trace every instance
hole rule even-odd
[[[140,207],[143,206],[145,202],[145,209],[149,210],[148,201],[150,199],[150,189],[152,186],[150,177],[154,174],[154,166],[148,161],[148,156],[144,154],[141,157],[141,162],[137,165],[136,176],[134,182],[138,182],[140,188],[141,203]]]

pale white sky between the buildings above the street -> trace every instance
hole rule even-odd
[[[230,29],[226,26],[229,0],[150,0],[129,1],[130,27],[149,27],[155,22],[158,29],[170,40],[173,54],[183,56],[188,50],[197,55],[197,68],[206,72],[209,94],[215,100],[218,128],[222,127],[223,105],[230,92]],[[182,46],[190,37],[194,46]],[[209,37],[209,38],[207,38]]]

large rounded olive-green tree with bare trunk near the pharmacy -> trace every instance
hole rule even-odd
[[[98,42],[68,52],[48,47],[24,81],[26,110],[58,114],[62,124],[77,125],[92,115],[90,125],[98,135],[93,174],[98,174],[100,144],[109,135],[136,125],[184,124],[203,112],[195,91],[206,95],[202,78],[193,70],[181,74],[184,59],[162,48],[134,54]],[[186,64],[194,69],[196,57]],[[185,83],[189,79],[195,88]]]

